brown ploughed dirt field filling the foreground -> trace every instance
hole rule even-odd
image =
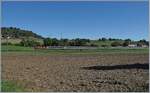
[[[27,91],[148,91],[148,54],[2,55],[2,79]]]

